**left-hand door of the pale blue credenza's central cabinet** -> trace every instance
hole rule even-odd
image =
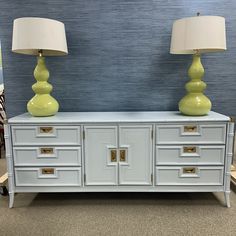
[[[85,185],[117,185],[117,127],[85,126],[84,130]]]

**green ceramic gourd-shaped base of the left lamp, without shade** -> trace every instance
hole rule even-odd
[[[32,116],[53,116],[58,112],[59,104],[50,95],[52,85],[47,82],[49,71],[45,65],[45,58],[38,57],[38,64],[34,70],[37,82],[32,86],[35,96],[28,102],[27,110]]]

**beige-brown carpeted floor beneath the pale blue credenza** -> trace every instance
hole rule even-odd
[[[0,160],[0,166],[4,160]],[[236,194],[16,194],[0,197],[0,236],[236,235]]]

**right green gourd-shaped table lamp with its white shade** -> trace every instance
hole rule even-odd
[[[226,50],[225,19],[220,16],[188,17],[176,20],[172,28],[171,54],[193,54],[188,70],[191,80],[186,83],[187,95],[179,102],[181,113],[190,116],[206,115],[211,110],[211,101],[203,92],[206,83],[201,79],[204,68],[201,54]]]

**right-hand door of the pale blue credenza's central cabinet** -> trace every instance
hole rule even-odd
[[[151,185],[152,126],[120,126],[119,184]]]

